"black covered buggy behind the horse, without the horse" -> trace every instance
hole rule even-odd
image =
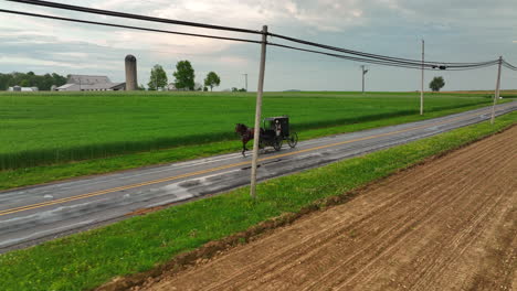
[[[289,117],[267,117],[262,120],[264,130],[261,130],[258,148],[273,147],[276,151],[282,149],[284,140],[291,148],[298,143],[298,134],[289,129]]]

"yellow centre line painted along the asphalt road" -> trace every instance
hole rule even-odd
[[[489,109],[486,109],[484,111],[489,111]],[[439,125],[443,125],[443,123],[447,123],[447,122],[452,122],[452,121],[456,121],[456,120],[461,120],[461,119],[467,119],[467,118],[473,117],[473,116],[479,116],[479,115],[483,115],[484,111],[467,115],[467,116],[464,116],[464,117],[447,119],[447,120],[440,121],[440,122],[434,122],[434,123],[431,123],[431,125],[411,127],[411,128],[397,130],[397,131],[392,131],[392,132],[380,133],[380,134],[374,134],[374,136],[369,136],[369,137],[363,137],[363,138],[358,138],[358,139],[352,139],[352,140],[347,140],[347,141],[329,143],[329,144],[319,146],[319,147],[315,147],[315,148],[309,148],[309,149],[305,149],[305,150],[298,150],[298,151],[292,151],[292,152],[287,152],[287,153],[275,154],[275,155],[272,155],[272,157],[266,157],[266,158],[258,159],[258,161],[262,162],[262,161],[266,161],[266,160],[294,155],[294,154],[309,152],[309,151],[316,151],[316,150],[331,148],[331,147],[341,146],[341,144],[346,144],[346,143],[363,141],[363,140],[370,140],[370,139],[376,139],[376,138],[387,137],[387,136],[393,136],[393,134],[397,134],[397,133],[402,133],[402,132],[407,132],[407,131],[411,131],[411,130],[415,130],[415,129],[435,127],[435,126],[439,126]],[[119,187],[114,187],[114,188],[108,188],[108,190],[102,190],[102,191],[85,193],[85,194],[81,194],[81,195],[76,195],[76,196],[60,198],[60,200],[55,200],[55,201],[41,202],[41,203],[31,204],[31,205],[14,207],[14,208],[10,208],[10,209],[0,211],[0,216],[12,214],[12,213],[18,213],[18,212],[23,212],[23,211],[30,211],[30,209],[40,208],[40,207],[45,207],[45,206],[51,206],[51,205],[61,204],[61,203],[72,202],[72,201],[76,201],[76,200],[83,200],[83,198],[87,198],[87,197],[99,196],[99,195],[104,195],[104,194],[108,194],[108,193],[113,193],[113,192],[118,192],[118,191],[124,191],[124,190],[129,190],[129,188],[136,188],[136,187],[158,184],[158,183],[162,183],[162,182],[169,182],[169,181],[173,181],[173,180],[178,180],[178,179],[182,179],[182,177],[189,177],[189,176],[211,173],[211,172],[225,170],[225,169],[230,169],[230,168],[234,168],[234,166],[246,165],[246,164],[251,164],[251,161],[232,163],[232,164],[228,164],[228,165],[211,168],[211,169],[201,170],[201,171],[191,172],[191,173],[186,173],[186,174],[181,174],[181,175],[169,176],[169,177],[163,177],[163,179],[158,179],[158,180],[151,180],[151,181],[148,181],[148,182],[131,184],[131,185],[127,185],[127,186],[119,186]]]

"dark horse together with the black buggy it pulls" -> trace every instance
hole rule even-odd
[[[287,141],[291,148],[296,147],[298,143],[298,134],[289,128],[288,116],[267,117],[262,120],[262,123],[263,128],[260,130],[261,137],[258,139],[260,149],[273,147],[275,151],[279,151],[284,141]],[[241,136],[242,155],[246,157],[246,143],[253,139],[255,132],[254,128],[238,123],[235,126],[235,132]]]

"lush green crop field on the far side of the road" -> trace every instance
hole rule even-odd
[[[430,94],[425,111],[489,103],[483,95]],[[254,107],[252,93],[0,94],[0,170],[234,140],[234,125],[251,125]],[[299,132],[418,110],[418,93],[304,91],[266,94],[263,115],[289,115]]]

